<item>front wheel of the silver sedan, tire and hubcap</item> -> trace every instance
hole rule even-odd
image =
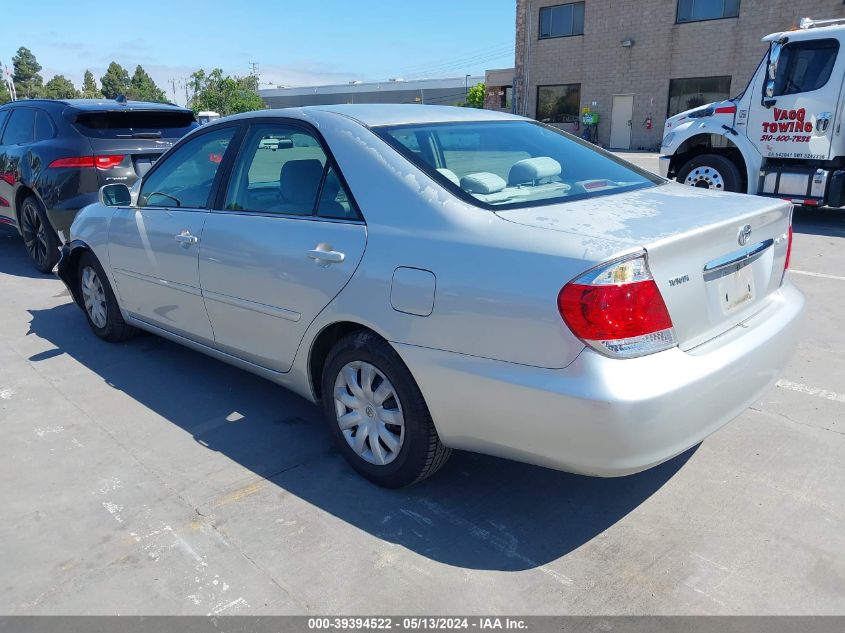
[[[132,337],[136,330],[123,320],[111,284],[91,251],[84,252],[79,258],[76,278],[82,309],[94,334],[110,343]]]

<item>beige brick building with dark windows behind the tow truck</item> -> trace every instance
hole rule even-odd
[[[598,142],[655,149],[667,115],[740,94],[760,38],[842,0],[517,0],[514,110]]]

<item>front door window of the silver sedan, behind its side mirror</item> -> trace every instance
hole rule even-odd
[[[169,153],[144,179],[139,206],[207,209],[214,177],[236,131],[232,126],[201,134]]]

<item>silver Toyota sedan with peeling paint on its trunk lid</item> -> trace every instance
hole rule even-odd
[[[784,202],[535,121],[325,106],[190,133],[101,190],[58,272],[100,338],[321,402],[352,467],[404,486],[451,449],[617,476],[702,441],[794,348],[791,244]]]

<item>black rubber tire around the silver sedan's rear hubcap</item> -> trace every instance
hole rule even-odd
[[[384,465],[370,463],[356,453],[338,424],[335,380],[348,363],[355,362],[369,363],[384,375],[396,392],[395,406],[401,409],[404,418],[404,434],[399,450],[395,458]],[[451,455],[451,449],[445,447],[437,435],[431,414],[411,372],[390,344],[371,332],[354,332],[338,341],[329,352],[323,367],[322,401],[329,433],[340,452],[352,468],[374,484],[385,488],[409,486],[433,475]],[[354,431],[356,435],[360,428]],[[369,441],[368,437],[365,440],[367,445]]]

